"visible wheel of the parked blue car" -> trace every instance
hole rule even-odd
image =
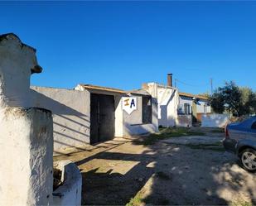
[[[256,171],[256,151],[246,149],[241,152],[240,160],[245,170]]]

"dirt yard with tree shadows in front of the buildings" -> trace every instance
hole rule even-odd
[[[255,174],[223,150],[223,134],[200,131],[205,136],[172,137],[151,146],[116,138],[55,160],[70,159],[79,166],[82,204],[256,204]]]

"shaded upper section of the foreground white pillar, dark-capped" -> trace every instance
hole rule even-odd
[[[16,36],[0,40],[0,107],[31,106],[29,86],[31,68],[35,65],[35,50],[23,46]]]

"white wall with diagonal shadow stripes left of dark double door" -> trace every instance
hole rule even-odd
[[[53,113],[55,154],[89,143],[88,91],[31,87],[31,98],[34,107],[47,108]]]

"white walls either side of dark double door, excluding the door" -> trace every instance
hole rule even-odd
[[[137,95],[137,109],[128,114],[122,108],[126,93],[114,93],[97,89],[54,89],[31,87],[31,103],[34,107],[47,108],[53,113],[54,154],[80,149],[90,143],[90,93],[114,96],[114,137],[138,136],[158,132],[157,103],[152,99],[152,122],[142,122],[142,95]],[[132,94],[131,94],[132,95]]]

